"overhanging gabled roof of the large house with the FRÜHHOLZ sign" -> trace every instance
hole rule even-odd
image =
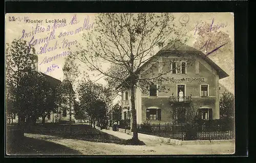
[[[229,75],[223,71],[222,68],[220,68],[214,61],[212,61],[207,55],[205,55],[202,51],[199,51],[191,46],[185,45],[184,43],[181,42],[175,42],[173,44],[168,44],[164,48],[162,48],[156,55],[155,57],[160,57],[160,56],[166,56],[166,54],[178,54],[178,53],[186,53],[186,54],[197,54],[198,57],[201,57],[204,61],[206,61],[211,67],[213,67],[216,71],[217,74],[219,75],[219,79],[228,77]],[[145,67],[145,65],[148,62],[151,62],[155,57],[152,57],[150,60],[145,62],[142,66],[140,66],[137,71],[135,72],[136,74],[140,73],[142,68]],[[127,77],[125,80],[127,81],[130,78]],[[119,84],[116,89],[118,89],[123,83]]]

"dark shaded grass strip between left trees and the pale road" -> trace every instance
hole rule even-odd
[[[143,142],[138,144],[127,141],[125,139],[110,135],[100,130],[92,128],[90,125],[72,125],[72,134],[70,135],[69,125],[45,124],[32,125],[26,127],[26,133],[53,135],[62,138],[79,139],[82,141],[100,142],[100,143],[115,143],[120,145],[145,145]]]

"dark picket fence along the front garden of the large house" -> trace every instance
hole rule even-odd
[[[234,130],[223,125],[138,124],[137,128],[139,133],[182,141],[234,139]]]

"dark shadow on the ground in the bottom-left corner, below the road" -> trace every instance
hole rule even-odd
[[[79,151],[55,143],[24,137],[19,142],[6,142],[7,155],[81,155]]]

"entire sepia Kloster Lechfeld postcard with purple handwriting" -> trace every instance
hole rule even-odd
[[[5,23],[7,155],[234,153],[233,13]]]

